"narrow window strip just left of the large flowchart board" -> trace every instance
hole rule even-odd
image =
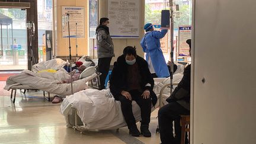
[[[98,26],[98,1],[89,0],[89,38],[95,39]]]

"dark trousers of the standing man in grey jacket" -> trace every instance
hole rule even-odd
[[[98,72],[102,73],[100,76],[100,89],[105,88],[105,78],[107,77],[110,68],[111,59],[112,57],[104,57],[98,59]]]

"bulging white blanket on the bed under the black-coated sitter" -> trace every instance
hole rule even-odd
[[[182,75],[176,75],[175,77],[177,76],[181,76],[182,78]],[[179,82],[181,78],[176,78],[179,79],[176,82]],[[162,82],[155,82],[153,91],[158,98],[163,85]],[[167,104],[165,100],[169,97],[169,88],[165,89],[163,97],[164,100],[162,103],[165,105]],[[117,129],[126,126],[123,114],[121,113],[120,101],[114,100],[109,89],[102,91],[86,89],[67,96],[63,100],[62,105],[60,105],[60,113],[66,117],[66,120],[68,120],[67,117],[69,111],[71,111],[70,105],[76,108],[78,116],[81,118],[87,130]],[[158,106],[159,100],[155,107]],[[139,121],[141,119],[139,105],[133,101],[132,107],[133,115],[136,121]],[[155,110],[155,107],[152,107],[152,111]]]

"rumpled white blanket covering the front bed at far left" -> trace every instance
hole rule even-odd
[[[67,76],[62,74],[63,72],[59,72],[59,75],[56,73],[48,73],[44,75],[44,78],[42,78],[39,73],[24,70],[18,75],[10,76],[7,79],[6,86],[4,89],[9,91],[9,89],[11,89],[11,87],[14,85],[28,85],[34,89],[40,89],[42,91],[47,91],[52,94],[70,95],[72,94],[71,84],[57,84],[57,82],[59,82],[60,79],[63,79],[65,78],[65,76]],[[88,76],[87,78],[74,81],[73,92],[78,92],[85,89],[85,83],[95,78],[95,76],[97,76],[96,73],[94,73],[91,76]]]

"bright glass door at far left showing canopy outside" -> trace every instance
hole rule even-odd
[[[0,8],[0,71],[27,69],[27,12]]]

